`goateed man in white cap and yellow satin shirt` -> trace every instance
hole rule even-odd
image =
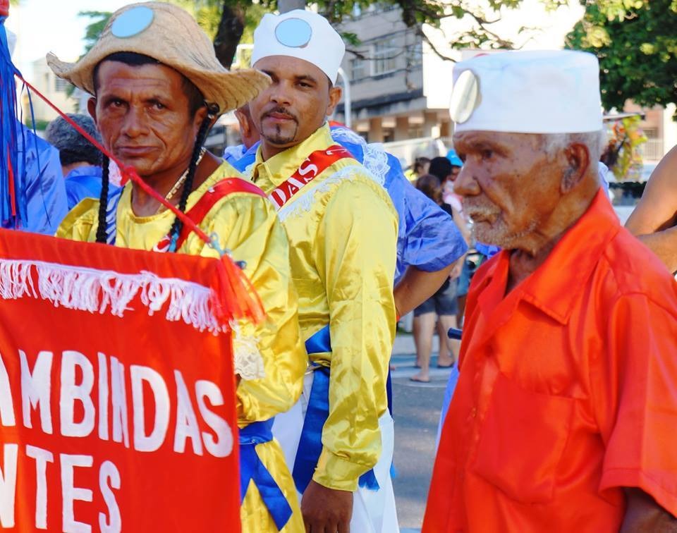
[[[307,530],[393,533],[386,376],[397,214],[382,184],[329,133],[344,51],[310,11],[267,14],[254,35],[252,66],[272,85],[250,102],[261,135],[251,178],[279,208],[291,243],[312,363],[303,399],[276,418],[274,434],[303,494]]]

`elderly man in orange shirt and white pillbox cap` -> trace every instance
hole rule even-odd
[[[472,280],[423,532],[677,531],[677,284],[600,190],[597,59],[453,78],[454,190],[504,251]]]

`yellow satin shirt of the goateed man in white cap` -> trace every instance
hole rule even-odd
[[[268,194],[317,149],[334,145],[329,126],[252,166]],[[331,367],[329,418],[313,479],[355,491],[381,453],[379,417],[387,408],[386,376],[395,335],[393,283],[397,213],[376,178],[341,159],[283,205],[291,274],[304,341],[329,324],[332,353],[310,356]]]

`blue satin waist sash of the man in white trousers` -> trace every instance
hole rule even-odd
[[[305,341],[305,350],[308,354],[331,352],[331,338],[329,326],[324,326]],[[315,473],[319,455],[322,453],[322,428],[329,417],[329,368],[318,366],[315,368],[310,388],[308,407],[303,419],[303,429],[298,442],[298,451],[294,460],[292,477],[296,489],[303,494]],[[390,403],[390,399],[389,399]],[[358,484],[372,491],[379,490],[379,482],[374,470],[369,470],[360,476]]]

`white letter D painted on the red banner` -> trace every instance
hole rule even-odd
[[[169,429],[169,391],[162,376],[152,368],[133,364],[129,367],[132,380],[132,403],[134,405],[134,449],[143,452],[156,451]],[[155,420],[150,434],[145,433],[145,405],[143,382],[150,385],[155,400]]]

